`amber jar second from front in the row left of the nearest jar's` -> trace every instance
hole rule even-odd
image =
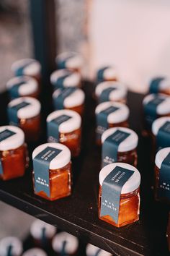
[[[81,116],[72,110],[54,111],[47,117],[48,142],[60,142],[76,157],[81,151]]]

